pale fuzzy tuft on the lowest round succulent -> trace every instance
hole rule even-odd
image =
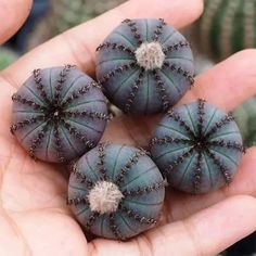
[[[97,182],[88,195],[90,209],[100,214],[116,212],[123,197],[118,187],[110,181]]]

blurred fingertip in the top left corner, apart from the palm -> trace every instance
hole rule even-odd
[[[0,43],[7,41],[27,18],[31,8],[31,0],[1,0],[0,1]]]

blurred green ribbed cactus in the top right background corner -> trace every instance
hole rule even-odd
[[[201,49],[222,60],[256,47],[256,0],[205,0],[199,23]]]

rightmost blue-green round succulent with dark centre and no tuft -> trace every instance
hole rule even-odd
[[[150,148],[169,184],[189,193],[230,183],[243,152],[233,118],[203,100],[170,110]]]

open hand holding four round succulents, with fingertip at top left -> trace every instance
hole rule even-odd
[[[30,1],[0,0],[0,7],[3,42],[29,13]],[[0,255],[216,255],[256,230],[256,149],[251,148],[229,187],[197,196],[168,190],[159,227],[128,242],[87,243],[66,206],[67,180],[61,168],[29,158],[9,129],[11,95],[34,68],[71,63],[93,75],[95,48],[124,18],[164,17],[180,28],[202,10],[202,0],[130,0],[46,42],[0,73]],[[203,98],[231,111],[256,93],[255,66],[256,50],[236,53],[197,76],[180,103]],[[143,146],[158,118],[118,117],[108,124],[103,140]]]

